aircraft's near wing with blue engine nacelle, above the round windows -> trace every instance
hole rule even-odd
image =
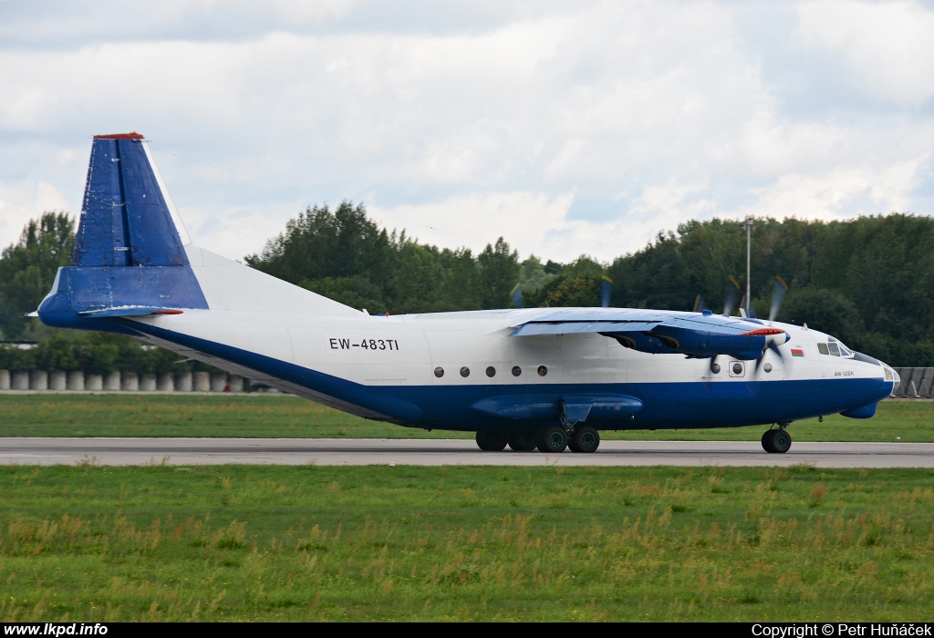
[[[510,337],[598,333],[633,350],[650,354],[711,357],[729,354],[757,359],[767,346],[790,336],[782,329],[740,317],[704,312],[557,311],[519,326]]]

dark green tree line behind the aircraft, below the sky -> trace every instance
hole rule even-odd
[[[788,285],[778,319],[807,323],[894,366],[934,366],[934,219],[864,216],[849,221],[759,218],[752,233],[751,305],[767,317],[776,275]],[[35,310],[70,261],[74,222],[47,213],[0,257],[0,330],[7,339],[48,338],[21,317]],[[252,268],[371,313],[610,305],[722,312],[745,291],[745,233],[731,220],[692,220],[659,232],[612,263],[520,260],[503,238],[475,254],[379,229],[362,204],[309,207]],[[517,284],[519,288],[517,289]],[[738,303],[733,304],[734,313]]]

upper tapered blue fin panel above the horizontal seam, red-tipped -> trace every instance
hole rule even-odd
[[[139,133],[95,135],[76,266],[188,266]]]

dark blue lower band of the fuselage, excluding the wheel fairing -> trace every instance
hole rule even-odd
[[[808,381],[697,381],[666,383],[528,383],[483,385],[373,386],[347,381],[310,368],[233,346],[125,319],[100,319],[177,343],[237,366],[256,370],[328,395],[340,402],[386,415],[387,421],[421,428],[477,430],[538,427],[553,420],[512,420],[488,417],[470,409],[481,399],[498,395],[615,394],[642,400],[634,415],[588,418],[598,429],[666,429],[738,427],[782,423],[835,414],[874,403],[892,392],[882,379],[820,379]],[[658,355],[667,356],[667,355]]]

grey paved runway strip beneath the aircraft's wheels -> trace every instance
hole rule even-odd
[[[0,438],[2,465],[795,465],[934,467],[934,443],[603,441],[593,454],[485,452],[473,440],[385,438]]]

